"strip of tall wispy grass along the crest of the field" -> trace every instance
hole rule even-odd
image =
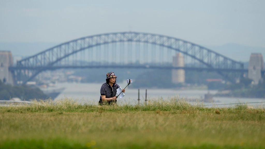
[[[80,104],[76,100],[71,98],[65,98],[63,100],[32,100],[30,104],[16,104],[10,106],[0,106],[0,112],[95,112],[95,111],[171,111],[171,112],[192,112],[195,111],[216,111],[220,112],[238,112],[238,111],[258,111],[264,112],[264,108],[248,108],[247,104],[235,104],[228,108],[220,107],[205,107],[202,103],[195,105],[189,104],[186,100],[177,97],[172,97],[169,100],[163,100],[159,98],[157,100],[149,100],[143,104],[116,104],[116,105],[103,105],[99,106],[93,103]]]

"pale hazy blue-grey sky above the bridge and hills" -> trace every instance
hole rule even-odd
[[[198,45],[265,47],[264,0],[0,0],[0,42],[157,33]]]

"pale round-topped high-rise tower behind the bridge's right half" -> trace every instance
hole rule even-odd
[[[181,53],[177,53],[173,56],[173,67],[184,67],[184,57]],[[172,70],[172,83],[184,83],[185,82],[185,71],[184,69],[173,69]]]

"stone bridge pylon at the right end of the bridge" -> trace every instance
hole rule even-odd
[[[262,81],[261,71],[264,70],[264,61],[261,53],[252,53],[249,59],[248,78],[258,84]]]

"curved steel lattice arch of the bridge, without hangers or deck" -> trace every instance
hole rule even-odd
[[[213,69],[243,69],[243,63],[232,60],[224,55],[207,49],[203,46],[196,45],[195,43],[188,42],[179,38],[164,36],[160,34],[142,33],[142,32],[115,32],[92,35],[87,37],[78,38],[72,41],[61,43],[50,49],[44,50],[29,56],[17,62],[17,68],[22,69],[35,69],[34,73],[28,77],[27,81],[37,76],[40,72],[45,71],[52,67],[57,62],[76,54],[80,51],[110,43],[122,42],[139,42],[148,43],[166,47],[167,49],[175,50],[197,60],[204,64],[206,67]],[[229,77],[221,71],[217,71],[220,75],[227,78]],[[27,82],[27,81],[24,81]]]

